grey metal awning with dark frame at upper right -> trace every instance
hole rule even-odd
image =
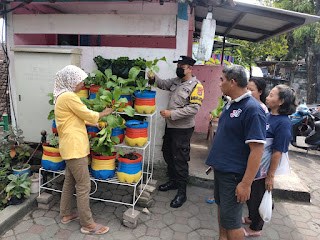
[[[259,42],[295,28],[320,21],[319,16],[278,8],[237,2],[236,6],[215,6],[213,0],[197,0],[195,11],[195,37],[201,32],[202,20],[212,9],[217,21],[216,35],[250,42]]]

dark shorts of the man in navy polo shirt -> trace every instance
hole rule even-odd
[[[214,197],[220,207],[220,223],[225,229],[241,228],[242,203],[237,202],[236,187],[243,174],[214,170]]]

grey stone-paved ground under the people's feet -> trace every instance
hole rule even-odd
[[[271,222],[265,224],[260,238],[253,239],[320,239],[320,157],[290,152],[290,159],[291,167],[311,189],[312,203],[276,200]],[[100,191],[97,195],[110,197],[112,193],[115,199],[128,198],[128,191],[131,190],[112,185],[112,189]],[[217,207],[205,202],[211,192],[200,187],[188,187],[188,201],[178,209],[169,206],[174,191],[156,192],[155,205],[149,209],[151,215],[141,214],[136,229],[121,225],[122,214],[127,207],[92,202],[94,219],[110,227],[110,232],[103,236],[81,234],[78,221],[61,224],[57,202],[49,211],[35,210],[1,239],[218,239]]]

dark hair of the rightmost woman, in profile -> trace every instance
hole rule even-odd
[[[296,111],[296,91],[284,84],[275,86],[279,91],[279,100],[283,99],[283,104],[280,105],[280,115],[290,115]]]

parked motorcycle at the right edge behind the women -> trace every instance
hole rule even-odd
[[[320,150],[320,107],[309,108],[305,103],[290,115],[294,147],[305,150]],[[302,141],[300,140],[301,138]]]

